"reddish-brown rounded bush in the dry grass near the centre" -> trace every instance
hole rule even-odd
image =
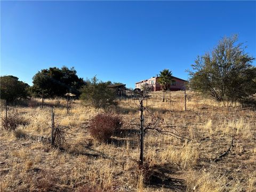
[[[111,114],[98,114],[91,120],[89,131],[94,139],[106,142],[121,126],[121,117]]]

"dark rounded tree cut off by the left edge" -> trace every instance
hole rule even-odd
[[[1,76],[1,99],[6,100],[6,103],[13,102],[18,98],[27,98],[29,96],[29,85],[19,81],[18,77],[7,75]]]

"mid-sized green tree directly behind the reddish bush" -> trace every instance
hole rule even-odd
[[[116,104],[115,92],[108,88],[108,83],[99,81],[95,76],[82,87],[81,93],[80,99],[95,108],[106,108]]]

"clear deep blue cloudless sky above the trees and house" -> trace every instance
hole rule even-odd
[[[165,68],[187,79],[225,35],[256,57],[255,12],[255,1],[1,1],[1,75],[31,85],[37,71],[65,65],[127,87]]]

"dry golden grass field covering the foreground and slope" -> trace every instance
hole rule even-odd
[[[146,134],[149,184],[138,174],[139,127],[130,122],[139,111],[133,100],[119,100],[111,109],[123,117],[121,134],[98,143],[87,125],[102,109],[73,101],[67,115],[65,100],[45,100],[41,109],[33,99],[28,107],[9,107],[9,115],[26,124],[13,132],[1,127],[1,191],[256,191],[255,110],[188,92],[185,111],[183,92],[166,94],[167,102],[161,97],[162,92],[151,93],[150,110],[191,141]],[[49,143],[52,105],[55,125],[69,127],[61,150]],[[213,162],[229,147],[230,153]]]

